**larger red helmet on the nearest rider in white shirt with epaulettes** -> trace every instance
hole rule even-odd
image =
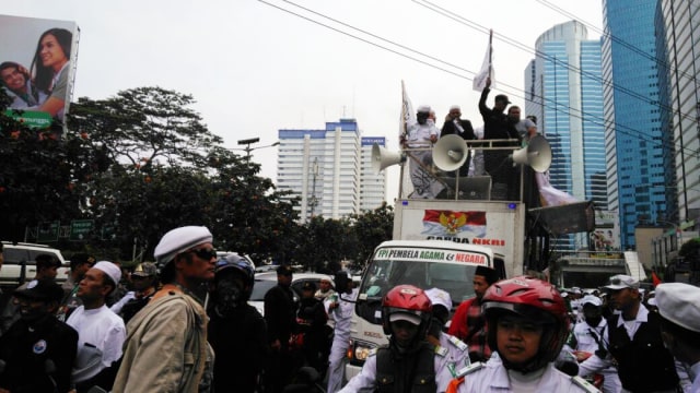
[[[483,295],[483,313],[492,350],[498,350],[497,322],[504,313],[515,313],[544,325],[539,352],[526,365],[512,365],[501,357],[506,368],[517,371],[537,370],[555,361],[569,336],[564,299],[553,285],[538,278],[520,276],[492,284]]]

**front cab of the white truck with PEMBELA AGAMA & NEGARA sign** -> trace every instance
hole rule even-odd
[[[368,262],[358,291],[346,379],[360,372],[371,349],[388,343],[382,329],[382,299],[389,289],[399,284],[444,289],[450,293],[454,309],[475,296],[472,278],[477,266],[493,265],[493,251],[482,246],[446,240],[381,243]]]

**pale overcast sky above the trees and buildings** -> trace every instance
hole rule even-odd
[[[599,38],[600,1],[22,0],[3,1],[0,13],[78,23],[73,100],[158,85],[191,94],[194,109],[231,148],[256,136],[253,147],[270,145],[279,129],[354,118],[364,136],[386,136],[398,150],[401,80],[415,107],[431,105],[441,120],[460,105],[463,118],[479,126],[471,78],[488,29],[491,95],[523,107],[537,37],[575,17],[590,39]],[[276,154],[253,152],[262,176],[276,179]],[[397,167],[388,170],[394,183]]]

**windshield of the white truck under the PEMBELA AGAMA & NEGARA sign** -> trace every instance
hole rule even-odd
[[[382,323],[382,298],[399,284],[450,293],[453,308],[474,297],[471,284],[476,265],[465,263],[382,260],[372,261],[360,285],[357,313],[366,321]]]

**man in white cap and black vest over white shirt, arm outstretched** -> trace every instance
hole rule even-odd
[[[676,392],[678,374],[674,357],[664,347],[661,318],[642,305],[637,278],[618,274],[605,290],[617,312],[603,331],[605,352],[579,365],[579,376],[587,376],[617,364],[622,392]]]

